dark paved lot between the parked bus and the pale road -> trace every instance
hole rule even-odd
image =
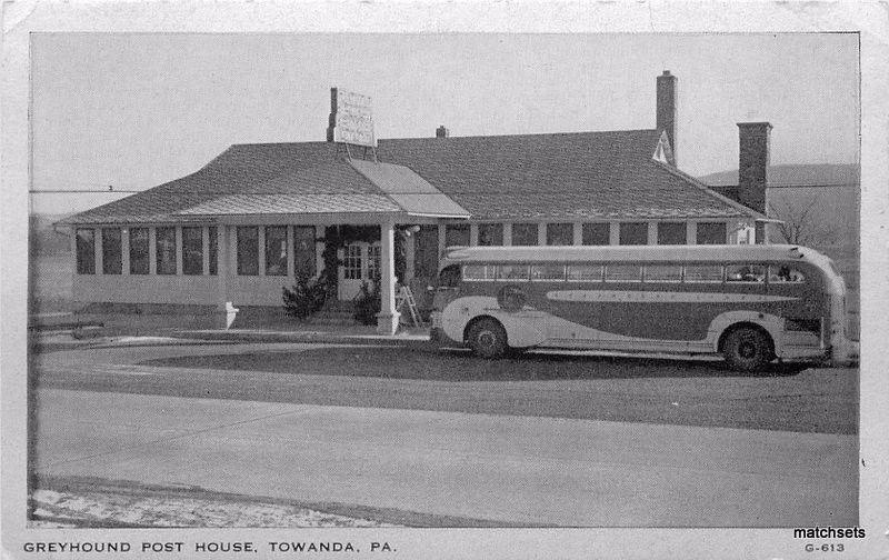
[[[292,343],[60,351],[33,368],[56,389],[845,434],[857,431],[857,373]]]

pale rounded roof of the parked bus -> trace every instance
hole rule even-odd
[[[792,244],[451,247],[448,248],[440,268],[455,262],[587,260],[683,262],[807,260],[823,264],[828,259],[815,249]]]

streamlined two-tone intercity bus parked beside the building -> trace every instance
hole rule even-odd
[[[843,362],[846,330],[846,283],[805,247],[458,247],[439,266],[431,336],[483,358],[721,354],[755,371],[776,359]]]

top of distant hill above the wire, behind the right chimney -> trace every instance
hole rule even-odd
[[[698,178],[712,187],[738,184],[738,170]],[[769,168],[769,187],[849,187],[860,182],[858,163],[788,163]]]

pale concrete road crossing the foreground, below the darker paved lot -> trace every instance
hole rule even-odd
[[[852,526],[852,436],[43,389],[36,468],[567,527]]]

